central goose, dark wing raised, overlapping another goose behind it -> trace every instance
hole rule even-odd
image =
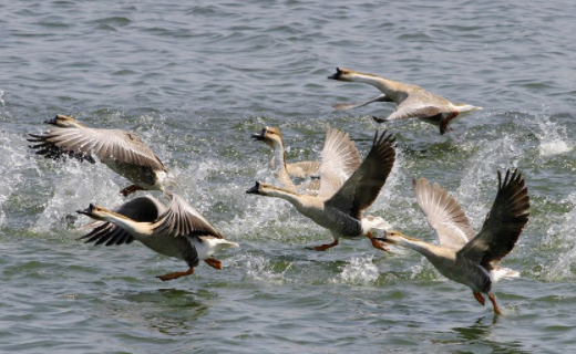
[[[367,157],[343,183],[338,170],[346,167],[347,159],[338,154],[329,154],[327,152],[330,149],[325,148],[317,195],[298,194],[259,181],[246,192],[285,199],[300,214],[330,230],[333,237],[331,243],[308,249],[326,251],[337,246],[340,237],[367,236],[374,248],[389,252],[385,244],[376,240],[370,231],[374,228],[387,229],[388,222],[380,217],[362,217],[362,211],[376,200],[392,170],[395,159],[393,143],[391,134],[387,136],[384,131],[379,136],[377,132]],[[348,163],[357,164],[353,159]]]

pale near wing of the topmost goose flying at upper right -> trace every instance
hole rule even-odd
[[[411,92],[388,116],[387,121],[426,118],[449,112],[451,108],[444,98],[420,88]]]

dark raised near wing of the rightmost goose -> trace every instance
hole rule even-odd
[[[479,235],[456,253],[456,258],[470,259],[492,270],[492,262],[500,261],[512,251],[528,222],[528,216],[529,196],[522,175],[508,169],[502,181],[498,171],[498,191],[492,209]]]

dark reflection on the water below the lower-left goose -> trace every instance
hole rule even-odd
[[[165,335],[187,335],[203,331],[198,322],[206,316],[217,294],[206,290],[158,289],[124,292],[113,296],[113,316]]]

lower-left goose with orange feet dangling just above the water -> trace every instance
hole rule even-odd
[[[81,215],[100,220],[94,229],[79,240],[85,243],[124,244],[138,240],[151,250],[184,260],[189,269],[158,275],[168,281],[194,273],[199,261],[222,269],[222,262],[212,256],[238,243],[224,239],[196,209],[175,194],[168,194],[168,207],[152,196],[143,196],[124,202],[116,209],[107,210],[91,204]]]

